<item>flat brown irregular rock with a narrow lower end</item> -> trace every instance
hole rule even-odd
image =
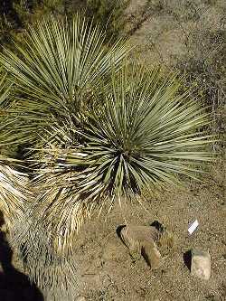
[[[120,231],[120,237],[133,257],[143,256],[151,268],[161,265],[161,254],[155,244],[159,231],[155,227],[129,225]]]

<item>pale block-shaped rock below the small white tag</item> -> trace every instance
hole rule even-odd
[[[211,277],[211,256],[209,251],[202,249],[192,250],[191,275],[204,280]]]

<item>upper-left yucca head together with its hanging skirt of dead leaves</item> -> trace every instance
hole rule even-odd
[[[70,201],[72,211],[64,208],[69,202],[70,174],[62,172],[56,177],[55,160],[61,161],[68,148],[82,143],[74,128],[82,126],[87,118],[84,113],[99,106],[100,95],[108,90],[112,66],[116,72],[121,68],[128,46],[123,41],[108,45],[99,26],[76,15],[71,24],[53,17],[42,20],[30,27],[23,43],[15,43],[14,48],[14,52],[5,49],[0,54],[14,85],[10,120],[16,120],[16,127],[13,131],[6,127],[6,134],[9,143],[25,146],[24,164],[32,179],[26,189],[33,202],[27,203],[24,216],[14,221],[13,244],[22,250],[32,280],[49,295],[69,299],[76,278],[71,240],[78,222],[73,219],[80,221],[84,212],[80,213],[80,202],[75,204],[76,195]],[[66,135],[57,135],[55,128]],[[45,153],[45,148],[48,152],[52,148],[52,154]],[[62,221],[58,220],[59,211],[65,212]],[[63,224],[68,213],[70,229]]]

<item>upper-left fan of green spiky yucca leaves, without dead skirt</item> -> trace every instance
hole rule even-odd
[[[29,28],[25,46],[15,44],[18,54],[7,49],[0,54],[20,90],[13,115],[24,121],[18,138],[31,144],[42,136],[42,127],[55,119],[78,118],[89,108],[93,94],[108,83],[111,66],[118,69],[128,50],[125,42],[106,45],[105,38],[99,26],[79,15],[71,24],[52,17]]]

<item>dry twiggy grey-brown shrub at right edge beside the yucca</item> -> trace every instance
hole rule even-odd
[[[175,68],[184,73],[185,85],[196,85],[196,93],[201,96],[203,106],[212,114],[209,130],[220,138],[214,145],[214,149],[218,150],[223,146],[221,139],[226,130],[225,44],[223,28],[208,28],[200,24],[188,34],[187,51],[174,61]]]

